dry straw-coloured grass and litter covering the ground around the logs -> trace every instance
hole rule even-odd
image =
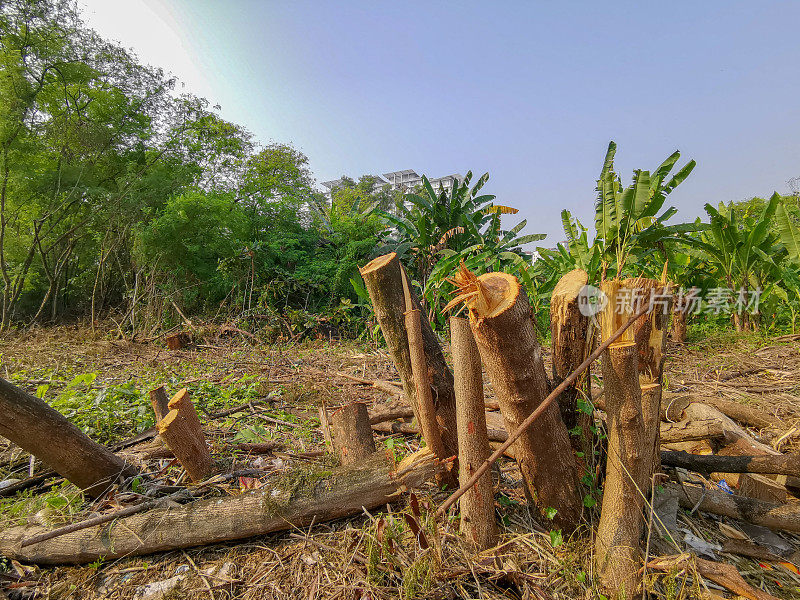
[[[76,343],[80,340],[80,343]],[[98,385],[126,381],[149,389],[167,382],[171,391],[179,385],[210,382],[223,392],[235,390],[243,378],[257,384],[252,409],[221,419],[205,416],[207,430],[216,441],[232,438],[257,424],[271,439],[283,441],[293,451],[314,452],[324,448],[317,430],[317,407],[335,406],[354,399],[381,404],[386,394],[368,386],[336,377],[344,371],[367,379],[396,377],[389,357],[382,351],[354,344],[310,342],[291,346],[254,347],[244,338],[209,339],[205,347],[168,351],[156,340],[120,342],[107,333],[92,337],[80,328],[55,328],[8,335],[0,340],[3,368],[9,377],[34,391],[42,381],[53,389],[76,374],[97,371]],[[765,342],[741,338],[734,343],[713,343],[672,349],[668,382],[672,390],[715,393],[760,408],[780,417],[787,428],[800,423],[800,344],[795,341]],[[215,388],[215,389],[216,389]],[[752,390],[759,390],[754,392]],[[224,394],[223,394],[224,395]],[[270,402],[258,404],[269,398]],[[225,396],[230,404],[234,396]],[[261,411],[261,412],[259,412]],[[259,414],[288,420],[300,426],[259,420]],[[785,431],[754,432],[765,441]],[[398,453],[412,451],[417,440],[386,436],[384,443]],[[392,441],[389,441],[392,440]],[[800,439],[784,442],[784,450],[797,448]],[[8,459],[0,452],[0,461]],[[229,457],[233,461],[233,457]],[[256,457],[238,457],[236,468],[253,465]],[[329,460],[329,459],[325,459]],[[271,463],[259,480],[280,477],[306,459],[284,455]],[[163,462],[150,461],[153,470]],[[180,477],[177,467],[167,469],[164,482]],[[587,510],[588,523],[571,539],[551,537],[546,524],[527,510],[516,466],[505,461],[495,471],[498,487],[498,546],[476,555],[458,535],[455,520],[434,523],[431,513],[443,499],[441,492],[420,492],[421,512],[414,514],[406,500],[382,511],[351,519],[322,523],[307,530],[264,536],[206,548],[121,559],[84,567],[33,569],[12,567],[12,597],[25,598],[134,598],[142,586],[176,575],[183,576],[171,598],[601,598],[592,583],[591,521],[597,508]],[[215,486],[212,493],[239,493],[236,481]],[[427,508],[426,508],[427,506]],[[85,505],[69,518],[81,518]],[[427,548],[411,532],[408,517],[423,527]],[[702,539],[720,542],[719,520],[680,511],[679,527]],[[726,520],[729,522],[729,520]],[[731,522],[732,525],[735,523]],[[653,534],[654,538],[657,536]],[[800,549],[797,536],[784,535]],[[654,540],[655,541],[655,540]],[[653,553],[678,550],[654,543]],[[718,555],[735,564],[749,583],[780,598],[800,597],[800,577],[777,564]],[[648,571],[647,586],[655,598],[669,600],[727,597],[691,568],[670,573]],[[0,584],[3,580],[0,579]],[[0,596],[1,597],[1,596]]]

